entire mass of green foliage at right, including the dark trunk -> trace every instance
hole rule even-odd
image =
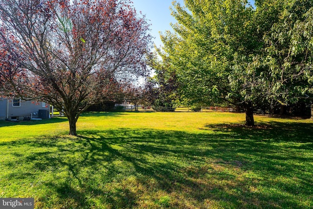
[[[256,107],[312,98],[312,1],[184,4],[174,2],[178,23],[172,24],[174,32],[161,34],[156,66],[157,73],[175,74],[180,100],[239,106],[246,125],[254,125]]]

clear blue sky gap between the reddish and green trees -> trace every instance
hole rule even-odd
[[[183,5],[183,0],[176,0]],[[156,46],[162,44],[159,33],[171,30],[170,23],[176,23],[176,20],[171,16],[170,7],[172,6],[172,0],[133,0],[134,7],[137,12],[142,12],[146,15],[148,23],[151,24],[151,35],[155,38],[154,42]],[[250,0],[254,3],[254,0]]]

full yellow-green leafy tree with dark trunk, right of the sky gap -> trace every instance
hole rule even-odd
[[[175,33],[161,35],[159,50],[169,73],[175,72],[179,95],[192,104],[228,102],[246,110],[254,125],[253,101],[258,99],[253,57],[262,37],[255,11],[246,0],[185,0],[174,2]]]

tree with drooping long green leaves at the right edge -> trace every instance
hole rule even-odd
[[[277,3],[278,2],[278,3]],[[313,1],[281,0],[277,22],[265,35],[263,65],[267,98],[282,105],[311,99],[313,93]],[[261,4],[265,7],[266,2]]]

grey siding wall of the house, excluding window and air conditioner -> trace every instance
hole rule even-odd
[[[0,119],[6,118],[6,105],[7,101],[0,101]],[[21,106],[13,106],[13,100],[9,100],[9,114],[8,119],[12,119],[11,117],[20,117],[19,120],[23,119],[23,116],[31,116],[33,114],[33,118],[38,117],[39,110],[49,110],[50,106],[47,105],[43,107],[43,102],[36,101],[23,101],[21,100]],[[4,116],[2,116],[2,112]]]

